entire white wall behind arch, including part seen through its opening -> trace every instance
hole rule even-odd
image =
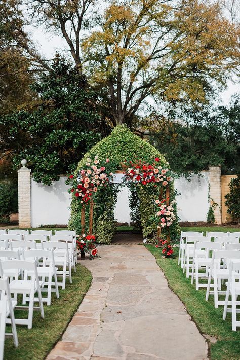
[[[202,172],[204,177],[197,175],[190,181],[181,177],[175,180],[178,214],[180,221],[206,221],[209,209],[208,186],[209,172]],[[41,224],[67,224],[70,217],[71,196],[67,192],[65,176],[51,186],[38,184],[31,179],[31,226]],[[121,174],[117,174],[114,182],[120,183]],[[115,219],[121,223],[130,223],[129,190],[122,187],[118,193],[114,210]]]

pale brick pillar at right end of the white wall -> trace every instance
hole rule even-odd
[[[221,166],[209,167],[210,204],[214,210],[215,224],[222,224]]]

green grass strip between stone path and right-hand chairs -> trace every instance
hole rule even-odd
[[[240,359],[240,330],[231,330],[231,314],[222,319],[223,306],[214,308],[213,295],[205,301],[206,289],[195,290],[191,279],[186,278],[178,266],[178,249],[175,247],[175,259],[163,259],[161,249],[146,244],[145,247],[156,258],[157,265],[163,270],[170,289],[179,297],[186,307],[192,320],[202,334],[213,336],[216,343],[209,341],[211,360],[239,360]],[[164,307],[164,304],[163,304]],[[194,344],[192,344],[194,346]]]

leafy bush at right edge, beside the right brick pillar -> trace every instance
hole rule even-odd
[[[230,192],[225,195],[227,212],[240,224],[240,175],[230,180],[229,189]]]

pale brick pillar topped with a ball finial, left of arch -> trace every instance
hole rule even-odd
[[[27,160],[22,160],[18,170],[18,227],[31,227],[31,170],[26,167]]]

